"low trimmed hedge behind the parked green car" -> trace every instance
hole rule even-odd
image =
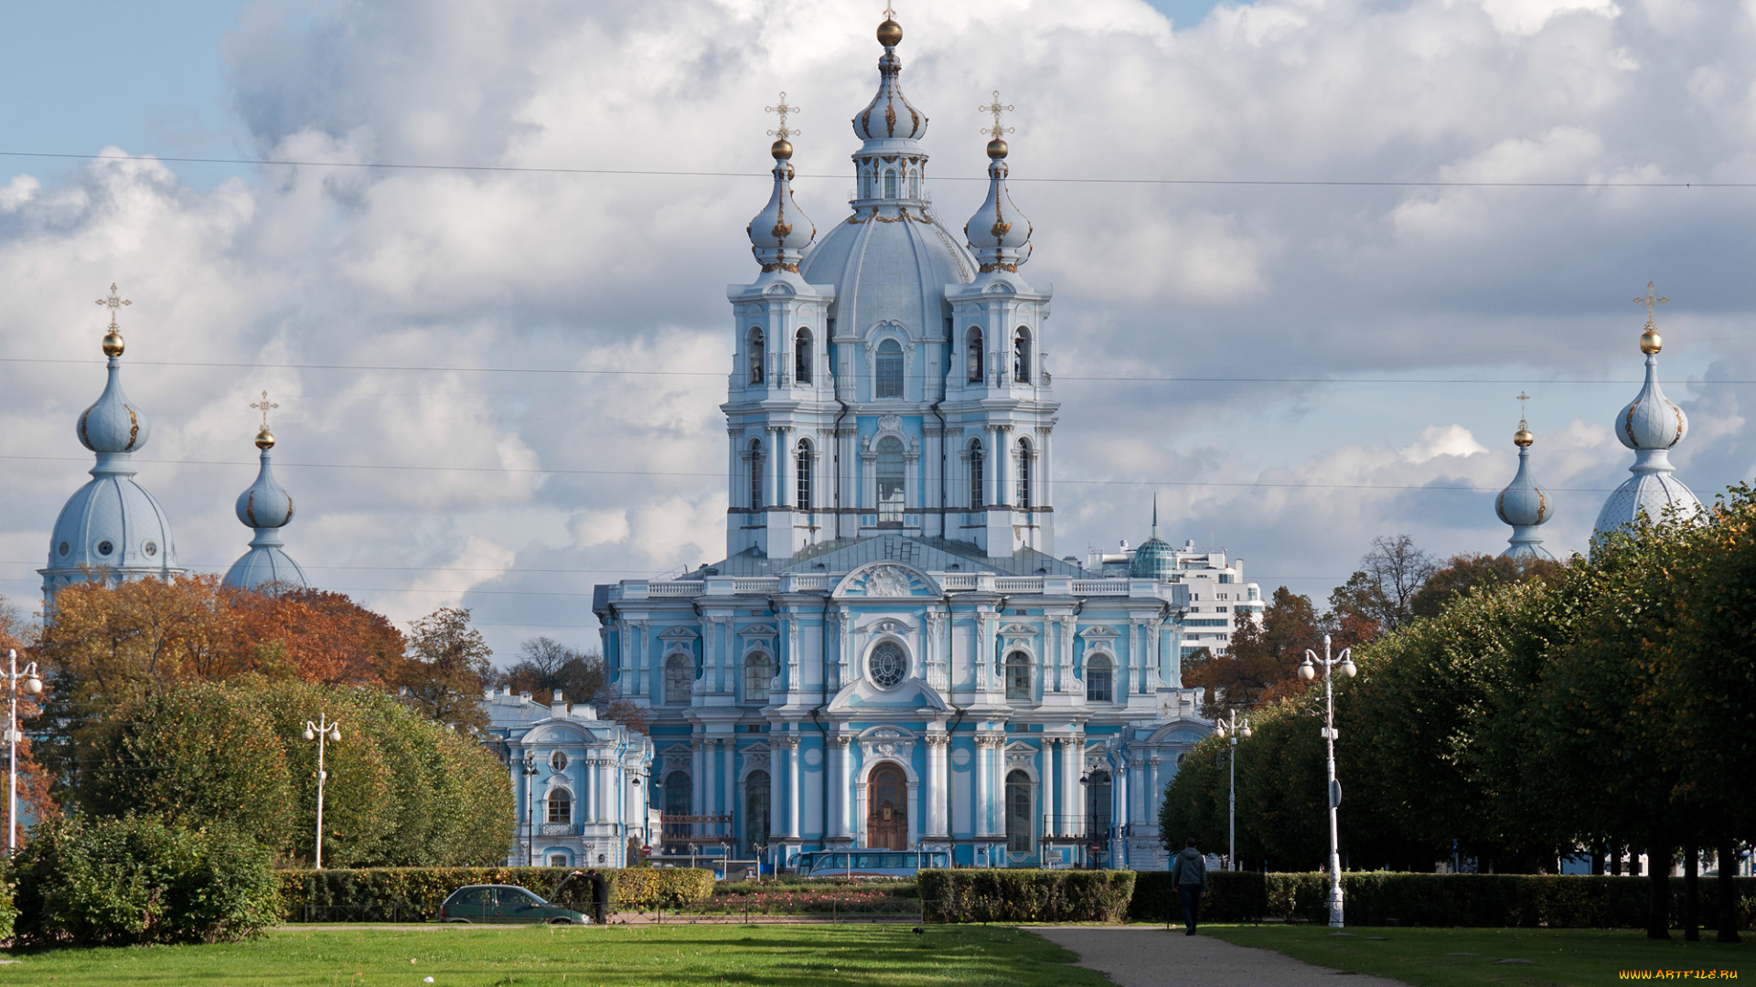
[[[291,922],[437,919],[439,903],[472,883],[511,883],[548,897],[564,876],[585,868],[360,868],[276,871]],[[713,871],[697,868],[599,868],[613,910],[680,908],[713,894]],[[574,878],[557,904],[587,911],[590,882]],[[414,906],[414,908],[409,908]]]

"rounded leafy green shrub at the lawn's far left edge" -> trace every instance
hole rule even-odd
[[[279,917],[267,852],[225,827],[44,822],[14,875],[19,945],[235,941]]]

